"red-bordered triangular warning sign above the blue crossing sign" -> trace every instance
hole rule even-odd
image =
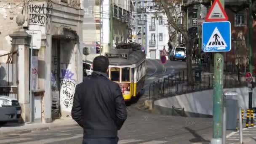
[[[213,5],[211,6],[210,11],[208,12],[205,20],[206,21],[227,21],[227,17],[224,8],[221,6],[219,0],[214,0]]]

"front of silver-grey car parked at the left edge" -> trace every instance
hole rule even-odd
[[[0,125],[17,121],[21,117],[21,106],[17,99],[0,96]]]

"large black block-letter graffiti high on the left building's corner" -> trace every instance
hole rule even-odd
[[[33,3],[29,4],[29,24],[46,26],[51,16],[51,3]]]

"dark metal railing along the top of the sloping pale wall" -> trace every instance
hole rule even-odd
[[[253,81],[256,80],[255,76],[253,75]],[[162,80],[149,85],[149,99],[213,89],[213,74],[198,75],[195,72],[194,77],[190,77],[190,81],[194,83],[192,85],[188,84],[188,78],[184,77],[184,72],[183,74],[168,75]],[[223,82],[224,88],[241,88],[247,86],[244,73],[224,73]]]

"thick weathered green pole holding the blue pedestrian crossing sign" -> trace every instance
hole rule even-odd
[[[220,0],[224,8],[224,1]],[[214,82],[213,82],[213,139],[211,144],[221,144],[222,112],[223,112],[223,53],[214,53]]]

